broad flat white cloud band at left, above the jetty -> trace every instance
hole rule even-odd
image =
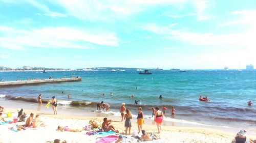
[[[70,27],[47,27],[30,31],[0,26],[0,47],[23,50],[26,47],[46,48],[93,48],[92,44],[118,46],[114,33],[76,29]]]

